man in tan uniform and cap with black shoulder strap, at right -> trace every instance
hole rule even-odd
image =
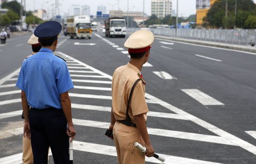
[[[154,155],[146,126],[146,83],[141,75],[142,66],[148,61],[153,41],[154,35],[148,30],[134,32],[124,44],[128,48],[131,60],[117,68],[113,74],[111,123],[108,131],[113,131],[119,164],[145,163],[145,155]],[[137,82],[138,84],[134,84]],[[128,103],[131,90],[133,94]],[[127,108],[127,105],[130,107]],[[135,142],[145,146],[147,153],[143,154],[137,150],[133,145]]]

